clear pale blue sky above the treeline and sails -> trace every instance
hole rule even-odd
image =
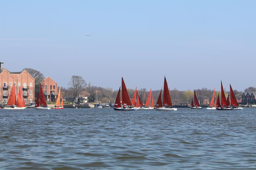
[[[91,36],[86,36],[86,34]],[[256,1],[0,1],[0,61],[68,87],[256,86]]]

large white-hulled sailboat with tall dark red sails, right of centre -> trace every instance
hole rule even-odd
[[[156,102],[156,107],[154,107],[154,109],[162,110],[162,111],[172,111],[172,110],[176,111],[177,108],[172,108],[173,107],[172,99],[171,99],[171,96],[170,96],[170,92],[169,92],[169,88],[168,88],[165,76],[164,76],[164,98],[163,98],[164,100],[163,100],[163,105],[162,105],[161,94],[162,94],[162,89],[161,89],[160,94],[158,96],[158,100]]]

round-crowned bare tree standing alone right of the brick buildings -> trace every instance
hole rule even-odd
[[[72,76],[70,81],[68,82],[69,89],[73,93],[74,101],[76,100],[76,97],[78,96],[79,93],[81,93],[84,88],[86,88],[86,82],[84,81],[84,78],[80,76]]]

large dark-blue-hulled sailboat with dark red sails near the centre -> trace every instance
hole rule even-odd
[[[114,110],[137,110],[137,108],[132,106],[123,77],[122,77],[122,103],[121,103],[121,97],[120,97],[120,88],[121,87],[119,87],[119,90],[116,96],[115,105],[113,107]]]

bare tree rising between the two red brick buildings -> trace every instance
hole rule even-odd
[[[23,70],[28,71],[28,73],[33,78],[35,78],[35,97],[37,97],[37,94],[40,91],[40,82],[44,80],[44,75],[40,71],[37,71],[37,70],[34,70],[34,69],[30,69],[30,68],[25,68]]]

